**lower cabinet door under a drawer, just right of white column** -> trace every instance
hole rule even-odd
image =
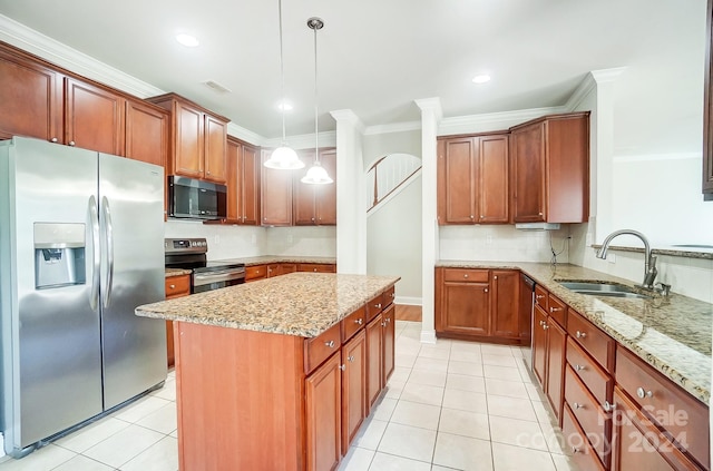
[[[443,331],[488,335],[490,330],[490,295],[487,283],[443,283]]]

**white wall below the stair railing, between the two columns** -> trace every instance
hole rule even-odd
[[[367,273],[401,276],[397,302],[421,304],[421,177],[367,217]]]

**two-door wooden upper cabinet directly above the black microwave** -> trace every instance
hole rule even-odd
[[[167,174],[226,183],[228,119],[176,94],[148,101],[172,112],[172,150]]]

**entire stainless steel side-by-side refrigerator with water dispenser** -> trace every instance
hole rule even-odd
[[[0,431],[6,453],[166,380],[164,170],[91,150],[0,143]]]

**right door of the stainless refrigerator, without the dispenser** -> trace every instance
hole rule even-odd
[[[134,310],[164,298],[164,169],[99,155],[104,405],[166,380],[165,322]]]

